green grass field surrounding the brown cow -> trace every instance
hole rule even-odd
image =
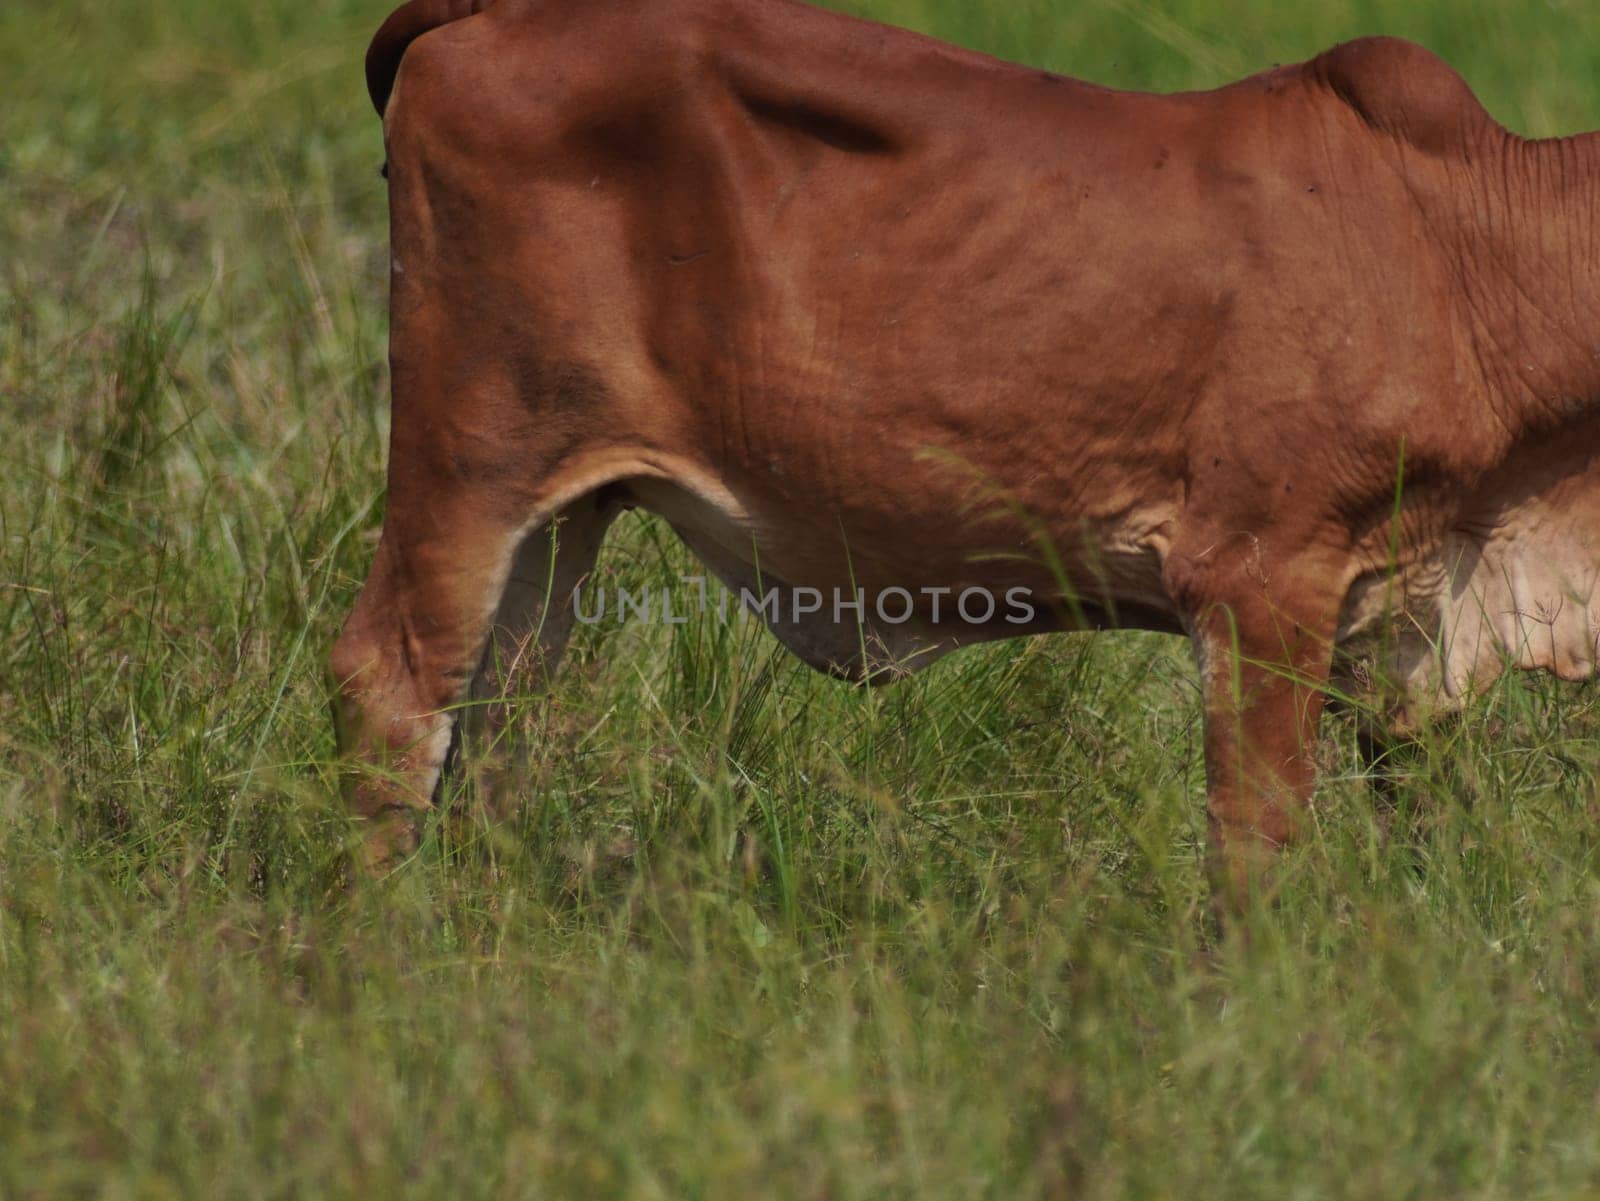
[[[1403,34],[1600,126],[1582,0],[859,5],[1118,86]],[[1218,944],[1176,640],[859,694],[594,628],[496,816],[346,891],[386,11],[0,3],[0,1198],[1600,1196],[1594,689],[1507,680],[1392,817],[1330,724]]]

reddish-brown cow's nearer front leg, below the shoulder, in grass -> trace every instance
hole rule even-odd
[[[1168,566],[1205,694],[1213,883],[1234,910],[1306,819],[1341,595],[1336,561],[1238,542]]]

